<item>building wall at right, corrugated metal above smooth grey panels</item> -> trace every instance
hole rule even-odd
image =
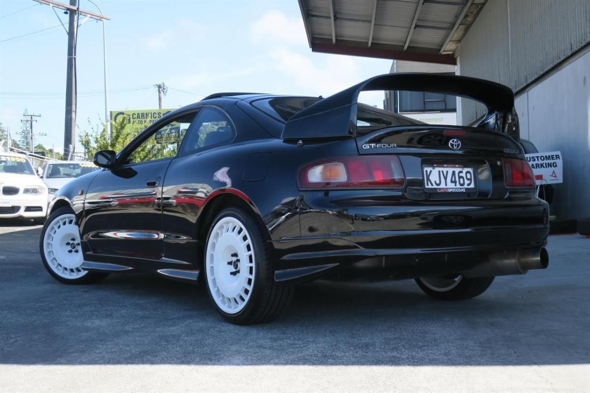
[[[560,218],[590,217],[590,50],[568,59],[588,42],[590,0],[489,0],[458,48],[461,75],[517,92],[521,136],[562,152],[551,204]],[[463,124],[481,114],[461,100]]]

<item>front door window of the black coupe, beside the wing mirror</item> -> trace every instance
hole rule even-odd
[[[176,157],[194,117],[195,114],[191,113],[175,118],[137,146],[126,162],[135,164]]]

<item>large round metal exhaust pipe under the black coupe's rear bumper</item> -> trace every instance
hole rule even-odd
[[[460,272],[466,278],[522,275],[529,270],[546,269],[549,255],[545,247],[516,251],[494,252],[487,260],[469,270]]]

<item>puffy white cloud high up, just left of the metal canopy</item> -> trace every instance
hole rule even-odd
[[[251,24],[250,38],[254,42],[307,43],[305,27],[301,18],[287,18],[287,16],[279,11],[268,11],[260,19]]]

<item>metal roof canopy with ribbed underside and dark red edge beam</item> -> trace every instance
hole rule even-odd
[[[487,0],[299,0],[314,52],[456,64]]]

